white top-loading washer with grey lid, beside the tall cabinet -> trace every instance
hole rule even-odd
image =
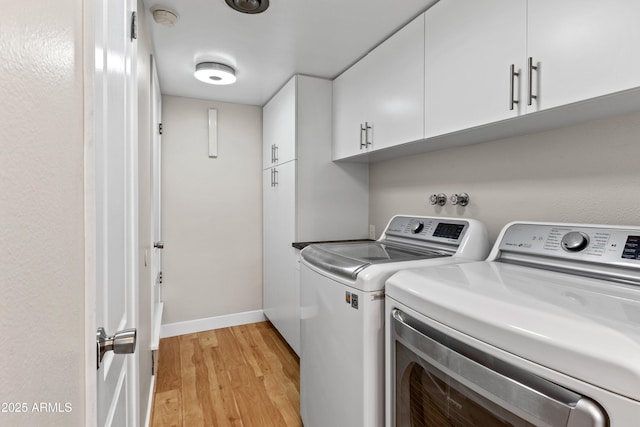
[[[300,409],[309,427],[384,425],[384,283],[403,268],[484,259],[472,219],[393,217],[377,241],[301,252]]]

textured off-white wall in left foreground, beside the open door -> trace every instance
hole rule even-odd
[[[27,403],[3,426],[85,424],[82,23],[80,0],[2,4],[0,402]]]

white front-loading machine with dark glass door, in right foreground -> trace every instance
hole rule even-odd
[[[640,227],[512,223],[386,293],[387,426],[640,425]]]

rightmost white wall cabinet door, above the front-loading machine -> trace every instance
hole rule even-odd
[[[532,109],[640,86],[639,18],[638,0],[529,1]]]

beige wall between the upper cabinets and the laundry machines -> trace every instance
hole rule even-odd
[[[640,114],[370,165],[370,221],[398,213],[640,225]],[[428,196],[469,193],[466,208]]]

